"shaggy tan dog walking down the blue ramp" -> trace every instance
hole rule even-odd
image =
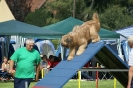
[[[93,13],[92,20],[89,20],[80,26],[75,26],[71,32],[62,36],[62,46],[70,49],[67,60],[71,60],[74,57],[77,48],[76,55],[80,55],[84,52],[91,40],[93,43],[98,42],[100,40],[98,35],[99,30],[100,21],[98,14]]]

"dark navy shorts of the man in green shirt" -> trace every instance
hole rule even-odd
[[[14,88],[29,88],[33,78],[16,78],[14,77]]]

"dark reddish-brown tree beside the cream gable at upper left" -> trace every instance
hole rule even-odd
[[[16,20],[24,21],[30,12],[32,0],[6,0]]]

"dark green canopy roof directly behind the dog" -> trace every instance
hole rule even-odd
[[[81,25],[83,23],[84,23],[83,21],[80,21],[73,17],[69,17],[63,21],[57,22],[52,25],[45,26],[43,28],[67,34],[68,32],[72,31],[72,29],[75,25]],[[104,39],[105,38],[118,39],[120,37],[118,33],[114,32],[114,31],[106,30],[104,28],[100,29],[99,35],[101,38],[104,38]]]

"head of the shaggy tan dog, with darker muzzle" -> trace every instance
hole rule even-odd
[[[66,48],[69,48],[72,44],[72,41],[73,41],[73,38],[70,34],[64,35],[62,36],[62,39],[61,39],[61,45]]]

